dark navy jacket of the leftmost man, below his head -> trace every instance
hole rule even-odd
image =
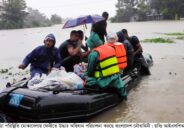
[[[39,46],[25,57],[23,65],[28,66],[31,63],[30,73],[34,77],[36,73],[47,74],[52,67],[60,68],[61,60],[57,48]]]

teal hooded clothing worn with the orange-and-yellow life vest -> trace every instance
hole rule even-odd
[[[89,39],[87,41],[87,44],[91,50],[102,45],[103,43],[98,37],[98,35],[96,35],[95,33],[91,33],[91,36],[89,37]],[[99,58],[100,58],[100,55],[97,51],[92,51],[88,56],[88,68],[85,74],[86,76],[88,76],[86,85],[87,86],[99,86],[100,88],[108,88],[109,86],[113,86],[118,90],[121,96],[126,96],[127,94],[124,88],[124,83],[122,79],[120,78],[119,74],[114,74],[108,77],[100,77],[100,78],[94,77],[96,67],[98,66],[99,61],[100,61]]]

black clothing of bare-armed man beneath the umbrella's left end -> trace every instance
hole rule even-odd
[[[73,66],[81,62],[80,56],[70,56],[68,52],[68,48],[72,46],[73,48],[77,47],[77,42],[66,40],[59,47],[59,52],[61,57],[63,58],[62,65],[65,67],[67,72],[73,72]]]

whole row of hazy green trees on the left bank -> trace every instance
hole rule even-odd
[[[45,27],[61,22],[62,18],[56,14],[49,19],[38,10],[27,7],[25,0],[4,0],[0,9],[0,29]]]

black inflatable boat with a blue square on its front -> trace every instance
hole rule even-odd
[[[141,61],[141,60],[140,60]],[[145,57],[123,76],[126,90],[136,86],[141,75],[149,74],[151,56]],[[27,88],[27,79],[8,85],[0,93],[0,122],[74,122],[88,118],[118,105],[123,99],[115,90],[84,88],[80,90]],[[111,88],[110,88],[111,89]]]

